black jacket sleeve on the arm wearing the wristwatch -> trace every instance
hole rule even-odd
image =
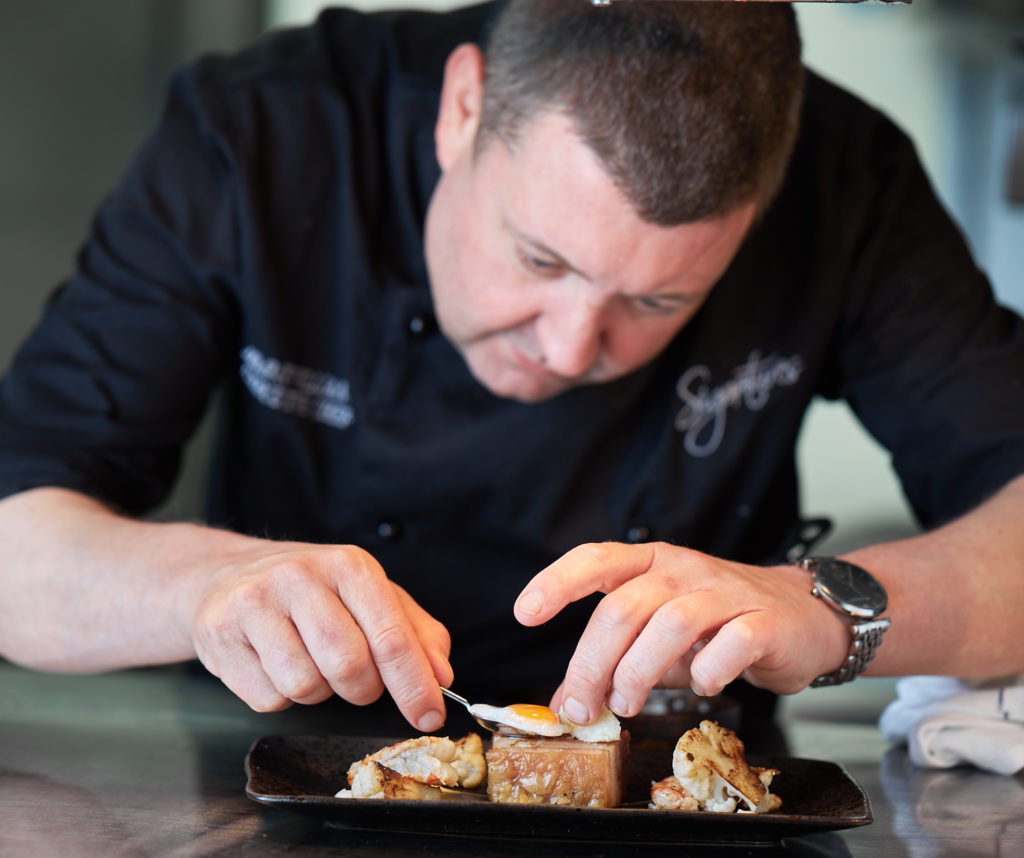
[[[836,207],[849,292],[825,392],[892,453],[931,527],[1024,473],[1024,320],[996,301],[905,135],[883,118],[858,135],[843,169],[861,208]]]

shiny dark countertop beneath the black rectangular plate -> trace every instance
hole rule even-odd
[[[258,715],[188,667],[81,677],[0,662],[0,855],[1024,855],[1024,776],[915,769],[862,721],[780,727],[792,756],[846,768],[870,799],[871,824],[728,848],[368,833],[251,801],[244,761],[264,735],[411,734],[388,706]]]

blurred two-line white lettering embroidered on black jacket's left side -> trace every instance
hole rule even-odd
[[[285,414],[345,429],[355,420],[345,379],[276,357],[255,346],[242,349],[239,375],[256,401]]]

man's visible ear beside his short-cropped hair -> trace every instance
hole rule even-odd
[[[434,126],[437,163],[446,170],[476,141],[483,104],[483,53],[473,44],[459,45],[444,63],[441,103]]]

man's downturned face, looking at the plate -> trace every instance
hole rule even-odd
[[[425,239],[434,308],[499,396],[536,402],[651,360],[753,220],[752,203],[681,226],[647,223],[560,114],[534,119],[514,148],[493,139],[475,153],[473,128],[445,130],[443,112],[442,101]]]

